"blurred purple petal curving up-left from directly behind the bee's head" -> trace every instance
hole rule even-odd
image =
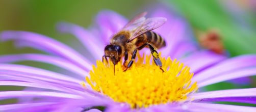
[[[100,51],[103,51],[105,46],[103,46],[102,40],[97,39],[98,37],[93,36],[83,27],[71,23],[61,22],[57,27],[60,32],[73,34],[83,43],[96,60],[101,59],[103,52]]]

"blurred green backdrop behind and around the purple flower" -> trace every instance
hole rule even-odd
[[[73,44],[78,43],[76,42],[78,40],[75,40],[74,37],[57,33],[55,25],[58,22],[66,21],[89,27],[94,22],[95,15],[101,10],[113,10],[130,19],[135,14],[147,9],[153,10],[155,6],[164,6],[184,17],[192,27],[195,40],[198,39],[198,32],[217,30],[230,57],[256,53],[256,2],[254,0],[0,0],[0,32],[4,30],[30,31],[76,47]],[[14,48],[12,42],[0,43],[0,54],[26,52],[40,51],[30,48],[17,49]],[[39,65],[34,62],[19,62],[19,64],[49,70],[58,69],[47,64]],[[246,85],[220,82],[208,86],[206,89],[255,88],[255,77],[250,78],[252,81]],[[0,91],[8,89],[10,88],[0,88]]]

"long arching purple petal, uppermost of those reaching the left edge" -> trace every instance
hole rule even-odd
[[[0,38],[4,41],[23,41],[23,45],[38,46],[39,48],[47,49],[47,51],[55,52],[55,54],[58,54],[61,57],[64,57],[87,70],[91,69],[90,62],[87,61],[80,53],[76,52],[67,45],[49,37],[30,32],[5,31],[0,34]]]

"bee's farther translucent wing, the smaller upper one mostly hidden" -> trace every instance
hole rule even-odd
[[[135,29],[136,27],[140,26],[145,20],[145,15],[147,12],[143,12],[136,17],[134,17],[131,21],[129,21],[122,30],[129,30],[131,31],[132,29]]]

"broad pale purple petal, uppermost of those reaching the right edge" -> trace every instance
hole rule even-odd
[[[208,68],[200,73],[197,73],[194,77],[194,81],[204,81],[211,79],[213,76],[227,74],[234,70],[243,69],[246,67],[256,66],[256,55],[242,55],[232,59],[222,61],[221,63]],[[223,69],[224,68],[224,69]]]

